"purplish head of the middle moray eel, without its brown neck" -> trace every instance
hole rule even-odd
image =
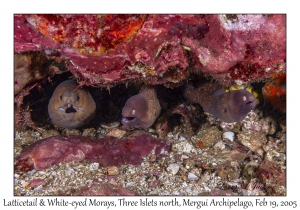
[[[125,126],[144,127],[143,118],[148,110],[148,104],[142,94],[130,97],[122,109],[122,124]]]

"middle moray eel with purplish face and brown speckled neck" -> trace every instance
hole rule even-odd
[[[156,90],[143,86],[139,94],[130,97],[122,109],[122,124],[136,128],[149,128],[160,114]]]

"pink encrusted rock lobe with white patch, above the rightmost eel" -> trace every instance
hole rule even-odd
[[[195,54],[196,68],[222,73],[213,75],[223,84],[248,83],[284,68],[284,15],[207,15],[205,19],[210,27],[203,39],[183,39]]]

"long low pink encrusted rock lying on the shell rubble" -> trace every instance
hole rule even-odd
[[[153,149],[157,156],[170,151],[171,144],[149,134],[139,134],[127,139],[105,137],[92,140],[84,136],[54,136],[36,141],[25,148],[16,159],[16,170],[37,170],[60,162],[91,160],[102,166],[140,164],[142,157]],[[23,164],[26,164],[24,166]]]

